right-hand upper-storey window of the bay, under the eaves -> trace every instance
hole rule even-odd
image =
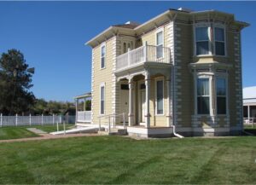
[[[225,55],[224,28],[214,28],[215,55]]]

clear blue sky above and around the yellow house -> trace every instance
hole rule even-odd
[[[0,54],[20,49],[38,98],[73,101],[90,91],[91,49],[84,43],[108,26],[143,23],[166,9],[218,9],[251,24],[242,31],[243,86],[256,85],[256,2],[0,2]]]

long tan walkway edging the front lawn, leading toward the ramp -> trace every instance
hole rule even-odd
[[[82,136],[99,136],[96,133],[94,134],[68,134],[68,135],[50,135],[50,134],[40,134],[38,137],[29,137],[29,138],[20,138],[20,139],[10,139],[10,140],[0,140],[0,143],[3,142],[29,142],[29,141],[40,141],[40,140],[51,140],[51,139],[61,139],[69,137],[82,137]]]

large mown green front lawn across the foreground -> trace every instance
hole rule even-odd
[[[0,182],[255,184],[256,137],[0,143]]]

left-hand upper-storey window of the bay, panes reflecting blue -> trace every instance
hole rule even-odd
[[[208,27],[195,28],[195,48],[196,55],[209,55],[209,35]]]

